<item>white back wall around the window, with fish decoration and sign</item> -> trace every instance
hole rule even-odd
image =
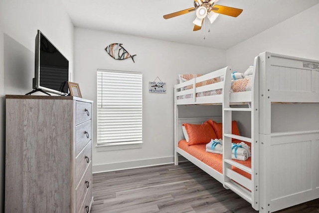
[[[123,43],[135,56],[114,60],[104,48]],[[95,102],[93,113],[93,171],[123,169],[173,162],[173,85],[178,73],[208,73],[225,66],[225,50],[155,39],[75,28],[74,81],[83,98]],[[115,69],[143,73],[143,146],[99,152],[96,146],[96,71]],[[148,92],[148,82],[159,77],[167,93]]]

